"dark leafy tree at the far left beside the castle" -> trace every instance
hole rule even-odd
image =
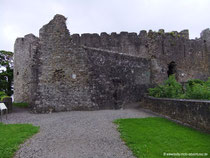
[[[0,91],[8,96],[13,94],[13,53],[0,51]]]

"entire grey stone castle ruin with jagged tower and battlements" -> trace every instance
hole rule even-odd
[[[180,82],[210,76],[210,30],[70,35],[55,15],[15,42],[14,100],[35,112],[118,109],[175,74]]]

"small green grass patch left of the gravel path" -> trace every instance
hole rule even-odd
[[[11,158],[27,138],[39,131],[31,124],[0,123],[0,158]]]

